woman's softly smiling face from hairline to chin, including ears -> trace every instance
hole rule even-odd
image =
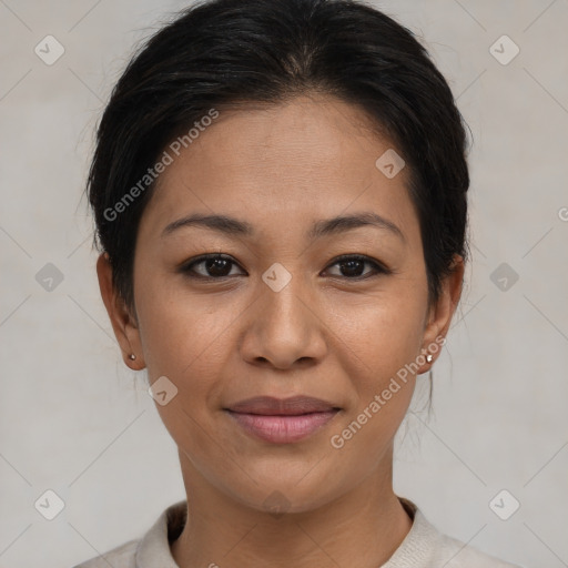
[[[220,113],[170,150],[139,227],[138,321],[111,308],[129,365],[160,379],[186,481],[254,508],[310,510],[389,478],[405,365],[429,369],[419,355],[436,357],[459,296],[463,270],[428,306],[407,171],[376,165],[392,146],[366,121],[298,98]],[[280,402],[298,396],[323,403]],[[256,397],[276,400],[237,404]]]

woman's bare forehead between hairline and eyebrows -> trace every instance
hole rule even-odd
[[[377,169],[393,145],[373,126],[359,109],[324,97],[220,111],[179,155],[166,149],[173,161],[160,175],[140,232],[158,236],[197,211],[290,234],[316,219],[364,210],[404,225],[412,239],[417,219],[407,172],[387,178]]]

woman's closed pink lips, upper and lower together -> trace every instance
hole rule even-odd
[[[324,400],[255,397],[226,408],[246,432],[273,444],[298,442],[325,426],[338,412]]]

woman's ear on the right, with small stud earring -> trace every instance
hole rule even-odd
[[[434,358],[430,363],[426,363],[418,374],[429,371],[442,353],[442,345],[445,343],[454,312],[462,296],[464,271],[464,258],[459,254],[454,255],[452,273],[442,282],[438,301],[428,308],[424,329],[422,353],[425,356],[430,353]]]

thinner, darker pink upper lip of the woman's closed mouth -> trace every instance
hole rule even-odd
[[[240,414],[298,416],[301,414],[337,410],[338,407],[311,396],[293,396],[291,398],[255,396],[254,398],[247,398],[246,400],[235,403],[226,409]]]

